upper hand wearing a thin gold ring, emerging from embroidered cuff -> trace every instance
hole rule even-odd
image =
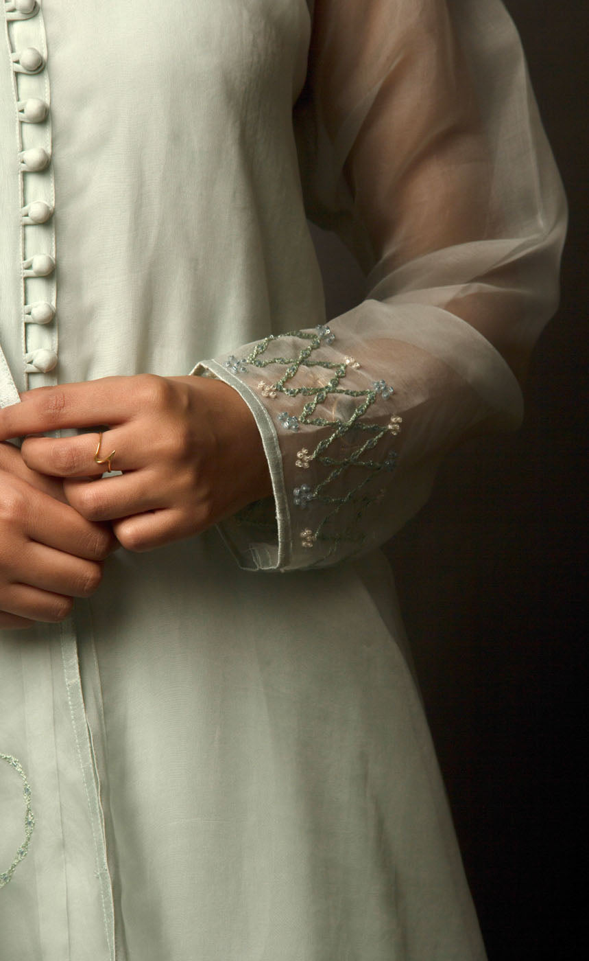
[[[101,456],[94,460],[99,425]],[[255,420],[237,391],[201,377],[107,377],[38,387],[0,410],[0,440],[95,428],[74,437],[27,437],[22,457],[63,478],[70,505],[90,521],[110,521],[130,551],[149,551],[205,530],[271,494]],[[101,479],[102,478],[102,479]]]

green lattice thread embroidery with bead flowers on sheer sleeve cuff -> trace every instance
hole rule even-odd
[[[269,346],[275,340],[282,337],[295,337],[306,341],[304,346],[298,351],[296,357],[264,357]],[[319,480],[315,487],[308,484],[301,484],[294,488],[294,505],[298,508],[306,508],[311,503],[325,505],[326,510],[322,520],[315,530],[304,528],[300,530],[299,536],[301,546],[312,548],[318,542],[324,543],[327,554],[324,554],[319,562],[323,562],[334,554],[340,544],[347,542],[353,548],[352,553],[356,553],[365,541],[365,533],[359,527],[360,521],[365,514],[365,510],[375,501],[384,496],[384,489],[373,490],[373,481],[383,470],[392,471],[396,463],[396,454],[387,446],[387,453],[382,459],[377,459],[372,452],[380,442],[390,436],[396,436],[401,428],[402,418],[391,415],[388,424],[371,423],[365,420],[365,414],[370,407],[381,398],[388,400],[393,394],[393,388],[385,381],[375,381],[365,390],[351,390],[345,386],[344,378],[348,372],[348,367],[357,370],[359,362],[354,357],[343,357],[342,360],[323,360],[312,357],[323,344],[331,344],[335,339],[335,334],[325,325],[321,325],[316,331],[292,331],[286,334],[271,334],[263,340],[258,341],[247,355],[247,357],[229,357],[225,361],[225,366],[234,372],[245,374],[249,367],[265,369],[272,364],[280,364],[286,369],[282,376],[275,382],[268,383],[260,381],[257,383],[257,390],[266,398],[275,400],[280,394],[287,397],[305,398],[302,409],[298,414],[289,413],[286,410],[280,411],[277,415],[278,423],[287,431],[298,431],[301,425],[331,429],[324,436],[313,451],[302,447],[296,454],[295,466],[308,470],[315,461],[322,465],[327,471],[323,480]],[[303,367],[306,370],[321,368],[329,372],[329,380],[326,383],[319,383],[315,386],[296,387],[293,379]],[[318,416],[317,408],[324,404],[330,395],[344,395],[349,398],[357,398],[358,405],[346,421],[329,420]],[[348,453],[345,456],[331,456],[329,449],[337,441],[341,440],[344,434],[348,434],[351,439]],[[367,436],[366,436],[367,434]],[[309,435],[305,434],[305,440]],[[382,446],[382,445],[381,445]],[[342,496],[330,494],[330,487],[334,481],[342,477],[342,474],[362,471],[360,480],[352,481],[349,490]],[[357,509],[342,530],[330,530],[334,521],[339,520],[344,507],[355,506]],[[249,520],[249,518],[247,518]],[[312,565],[313,566],[313,565]]]

